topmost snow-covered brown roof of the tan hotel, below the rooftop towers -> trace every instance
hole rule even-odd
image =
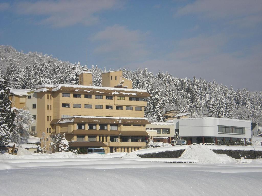
[[[94,90],[95,89],[95,90]],[[125,89],[125,88],[112,88],[112,87],[97,87],[97,86],[84,86],[72,84],[42,84],[36,86],[35,93],[45,91],[85,91],[90,93],[105,93],[105,94],[132,94],[137,96],[149,97],[150,94],[143,89]]]

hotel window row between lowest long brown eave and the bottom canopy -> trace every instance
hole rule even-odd
[[[107,135],[99,135],[99,142],[107,142]],[[96,142],[97,137],[94,135],[88,135],[87,141]],[[77,141],[85,141],[85,135],[77,135]],[[145,136],[120,136],[120,139],[116,135],[109,136],[109,142],[145,142]]]

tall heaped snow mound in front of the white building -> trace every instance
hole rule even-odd
[[[191,158],[198,160],[198,163],[236,163],[236,159],[226,154],[216,154],[205,145],[190,145],[179,158]]]

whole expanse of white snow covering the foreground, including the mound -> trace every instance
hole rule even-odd
[[[172,148],[186,150],[179,159],[137,156]],[[21,149],[0,155],[0,176],[0,195],[261,195],[262,159],[237,160],[204,145],[106,155]]]

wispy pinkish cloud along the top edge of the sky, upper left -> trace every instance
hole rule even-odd
[[[42,16],[41,24],[64,27],[74,24],[91,25],[99,21],[97,13],[121,6],[118,0],[60,0],[18,2],[13,4],[20,15]]]

